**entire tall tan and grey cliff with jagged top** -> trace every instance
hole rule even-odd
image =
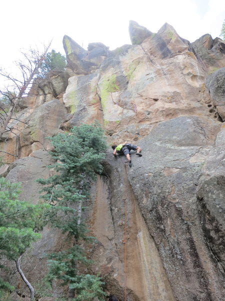
[[[88,249],[92,272],[119,300],[126,286],[128,301],[221,301],[224,41],[204,35],[190,44],[168,24],[154,34],[133,21],[129,33],[133,45],[113,51],[101,43],[84,50],[64,36],[67,68],[50,72],[38,96],[21,100],[16,114],[31,127],[13,120],[17,135],[5,137],[1,149],[20,159],[5,155],[1,175],[21,181],[23,199],[36,202],[35,179],[49,175],[51,162],[45,137],[97,119],[109,145],[131,141],[142,157],[131,154],[129,168],[109,148],[92,185],[85,212],[97,238]],[[46,227],[22,258],[31,282],[46,273],[44,253],[63,248],[61,233]],[[5,278],[24,291],[13,266]],[[60,293],[56,286],[42,300]]]

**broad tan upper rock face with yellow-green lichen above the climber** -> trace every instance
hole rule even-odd
[[[162,53],[158,51],[162,38],[171,50],[174,47],[169,58],[164,58],[164,48]],[[182,53],[177,52],[177,45]],[[98,87],[107,133],[123,131],[120,137],[124,139],[126,127],[133,123],[153,124],[183,114],[209,115],[206,106],[197,101],[205,77],[202,62],[191,52],[189,42],[170,26],[164,25],[141,46],[125,49],[121,55],[105,59],[100,68]]]

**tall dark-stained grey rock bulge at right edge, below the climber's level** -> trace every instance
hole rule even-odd
[[[208,244],[216,260],[222,268],[225,267],[223,237],[224,223],[224,194],[225,194],[225,129],[222,126],[218,132],[215,146],[202,169],[201,178],[197,188],[200,208],[203,212],[201,221]]]

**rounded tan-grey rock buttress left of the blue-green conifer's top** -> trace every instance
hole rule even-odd
[[[22,122],[12,120],[13,132],[6,137],[6,143],[0,142],[1,149],[18,158],[29,156],[37,149],[50,149],[45,137],[54,135],[65,118],[65,108],[58,99],[44,102],[35,108],[26,108],[13,116]],[[12,163],[16,157],[4,156],[4,163]]]

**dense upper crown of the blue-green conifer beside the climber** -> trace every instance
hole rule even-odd
[[[68,133],[59,133],[50,140],[54,146],[50,154],[57,160],[50,168],[57,173],[37,181],[45,185],[42,189],[44,200],[70,206],[88,197],[87,179],[95,179],[95,173],[102,172],[101,162],[107,148],[103,131],[97,123],[83,124],[74,126]]]

